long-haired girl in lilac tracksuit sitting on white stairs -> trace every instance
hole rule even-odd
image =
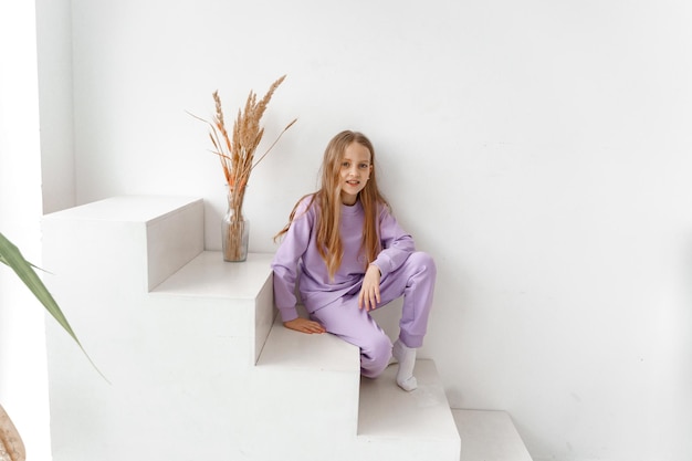
[[[417,252],[377,188],[375,149],[360,133],[342,132],[324,153],[322,187],[303,197],[274,256],[274,298],[284,326],[332,333],[360,348],[363,376],[375,378],[394,357],[397,384],[417,387],[416,348],[432,305],[436,266]],[[310,315],[298,317],[295,285]],[[403,295],[399,338],[392,345],[369,312]]]

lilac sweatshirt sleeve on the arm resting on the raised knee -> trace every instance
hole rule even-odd
[[[379,233],[382,251],[373,261],[373,264],[377,265],[385,276],[399,269],[407,258],[416,251],[416,245],[413,238],[401,229],[386,207],[382,207],[380,211]]]

